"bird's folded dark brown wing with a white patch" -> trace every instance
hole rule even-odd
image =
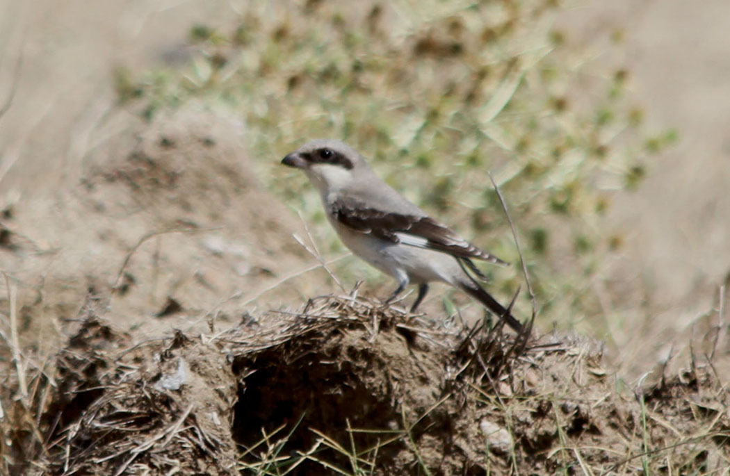
[[[504,261],[472,245],[455,231],[427,216],[385,212],[354,200],[337,200],[332,216],[350,229],[393,243],[438,250],[457,258],[477,258],[495,264]]]

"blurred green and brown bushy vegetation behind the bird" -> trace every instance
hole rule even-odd
[[[677,133],[645,131],[623,65],[588,72],[595,53],[566,46],[560,8],[556,0],[246,2],[236,28],[191,26],[189,61],[146,72],[120,66],[116,89],[146,118],[191,100],[242,116],[262,179],[308,222],[324,221],[319,197],[279,159],[307,139],[342,139],[412,201],[518,264],[491,173],[542,322],[595,328],[610,310],[593,283],[623,242],[602,234],[600,220]],[[608,41],[621,38],[615,31]],[[328,226],[312,229],[324,256],[341,250]],[[347,263],[334,269],[362,277]],[[501,296],[523,284],[519,266],[485,272]],[[370,278],[387,281],[374,270]],[[518,312],[529,314],[524,296]]]

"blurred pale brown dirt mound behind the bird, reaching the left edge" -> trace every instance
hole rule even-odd
[[[274,284],[276,300],[258,302],[276,307],[323,281],[287,280],[312,260],[291,237],[299,219],[242,153],[242,124],[192,106],[151,123],[118,115],[96,134],[79,185],[0,204],[21,331],[65,339],[89,288],[108,297],[110,320],[162,334],[234,322]]]

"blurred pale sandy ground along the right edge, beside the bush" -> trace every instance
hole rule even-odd
[[[667,309],[709,297],[730,270],[730,5],[696,7],[654,1],[629,22],[637,96],[650,120],[676,127],[681,140],[615,216],[636,230],[631,261],[648,269],[655,302]]]

